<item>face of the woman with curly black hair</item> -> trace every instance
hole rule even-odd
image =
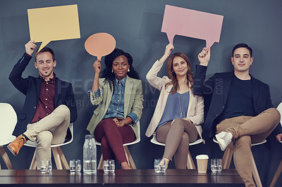
[[[116,79],[121,80],[126,76],[130,65],[128,63],[128,58],[125,56],[118,56],[114,59],[113,65],[111,66]]]

